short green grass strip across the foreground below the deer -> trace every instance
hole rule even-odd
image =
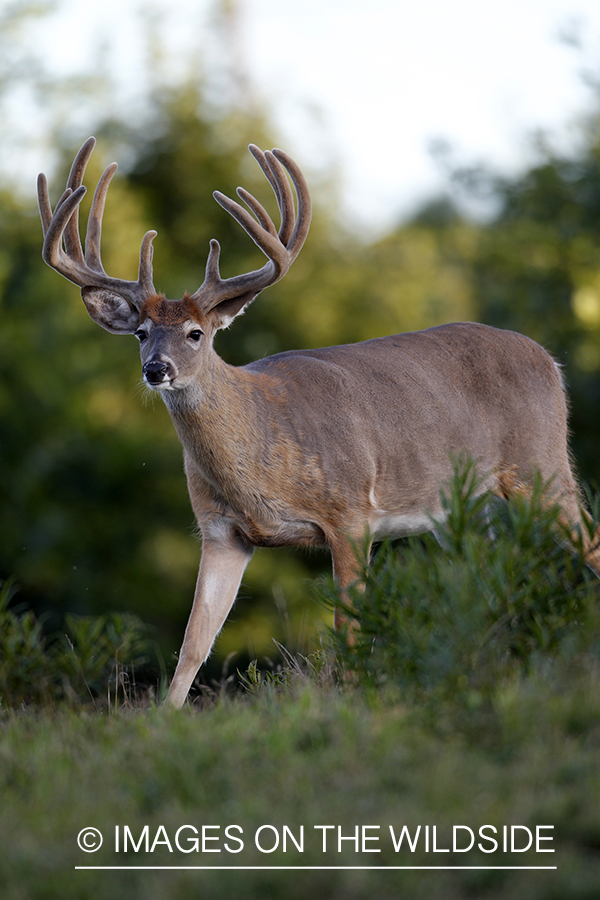
[[[444,709],[441,705],[440,712]],[[600,888],[600,672],[543,668],[499,686],[496,727],[473,709],[468,736],[450,719],[443,734],[423,726],[418,705],[381,703],[360,692],[318,689],[310,681],[294,690],[222,698],[202,710],[150,709],[100,716],[69,711],[0,715],[0,881],[3,896],[98,900],[249,900],[307,893],[333,898],[398,896],[428,900],[593,898]],[[460,723],[458,723],[460,725]],[[238,854],[179,851],[174,835],[184,825],[198,831],[243,828]],[[266,856],[256,830],[271,824],[295,835],[305,829],[305,849],[288,844]],[[173,846],[154,852],[114,852],[115,825],[150,840],[163,829]],[[328,852],[314,826],[378,825],[377,854]],[[491,824],[554,826],[554,854],[393,852],[389,826],[437,827],[448,846],[452,826]],[[79,850],[86,826],[104,835],[93,856]],[[121,831],[122,833],[122,831]],[[181,833],[184,839],[189,829]],[[183,843],[184,848],[186,844]],[[209,845],[209,849],[214,849]],[[75,866],[200,866],[197,871],[75,871]],[[229,871],[211,871],[219,865]],[[239,866],[256,866],[253,871]],[[264,867],[301,866],[299,871]],[[310,866],[512,866],[483,871],[330,871]],[[556,865],[554,871],[518,871]]]

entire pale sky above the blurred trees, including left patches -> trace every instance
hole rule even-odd
[[[284,149],[309,170],[339,172],[348,222],[366,232],[389,228],[447,183],[435,144],[456,164],[516,172],[535,159],[537,131],[568,152],[594,109],[598,0],[237,6],[226,50],[209,27],[213,0],[58,0],[31,40],[56,71],[110,67],[123,109],[142,89],[141,9],[159,22],[165,80],[179,77],[192,52],[208,71],[228,52],[271,111]]]

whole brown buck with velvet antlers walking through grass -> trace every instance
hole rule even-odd
[[[370,546],[433,530],[440,487],[460,454],[475,461],[480,489],[504,498],[531,491],[536,477],[552,480],[561,515],[583,535],[586,561],[600,575],[571,469],[565,386],[545,349],[515,332],[460,322],[231,366],[213,347],[216,332],[285,276],[307,237],[311,200],[300,168],[282,150],[251,144],[279,228],[244,188],[237,195],[246,208],[213,196],[267,261],[222,278],[213,239],[201,286],[168,300],[153,284],[156,231],[142,239],[137,281],[103,268],[102,216],[116,163],[98,181],[82,248],[79,207],[94,146],[89,138],[75,156],[54,210],[39,176],[42,256],[81,288],[94,322],[137,337],[145,385],[166,404],[183,447],[202,552],[167,705],[185,703],[255,548],[328,548],[347,592],[365,539]],[[347,622],[336,608],[334,627]]]

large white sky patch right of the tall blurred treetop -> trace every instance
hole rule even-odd
[[[292,146],[315,153],[328,142],[343,159],[351,210],[371,223],[390,222],[444,183],[432,142],[446,142],[459,164],[506,171],[532,158],[537,129],[576,142],[574,120],[592,100],[582,71],[600,74],[597,0],[250,7],[251,69],[276,97]],[[303,134],[302,103],[321,107],[322,133]]]

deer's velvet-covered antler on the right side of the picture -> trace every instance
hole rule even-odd
[[[192,298],[201,305],[204,312],[208,312],[225,300],[232,300],[247,294],[256,296],[260,291],[283,278],[302,249],[310,227],[310,194],[304,176],[296,163],[283,150],[273,150],[272,153],[267,150],[266,153],[263,153],[254,144],[250,144],[248,149],[273,188],[281,213],[281,226],[277,231],[264,207],[244,188],[238,188],[237,195],[256,218],[235,200],[231,200],[219,191],[214,192],[213,196],[217,203],[239,222],[269,261],[261,269],[223,279],[219,273],[221,248],[218,241],[212,240],[206,263],[206,278]],[[296,216],[294,216],[294,197],[285,174],[286,171],[289,173],[296,191],[298,201]]]

